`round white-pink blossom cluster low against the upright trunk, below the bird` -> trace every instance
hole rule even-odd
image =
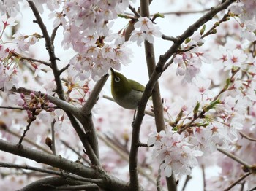
[[[196,157],[203,155],[203,152],[188,144],[183,133],[179,134],[173,130],[151,133],[148,136],[148,146],[151,145],[154,145],[153,155],[167,177],[172,173],[191,174],[192,168],[197,165]]]

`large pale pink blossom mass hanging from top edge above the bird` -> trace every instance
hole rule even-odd
[[[110,31],[110,20],[128,6],[129,1],[69,1],[63,4],[62,12],[50,15],[56,17],[53,27],[64,27],[64,49],[72,47],[78,52],[70,61],[70,77],[83,80],[91,76],[96,81],[110,67],[120,69],[121,64],[129,63],[127,43]],[[109,43],[110,36],[120,40]]]

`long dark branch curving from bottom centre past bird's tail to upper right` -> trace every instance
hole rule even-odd
[[[132,130],[132,145],[131,152],[130,152],[130,181],[131,184],[134,184],[133,187],[138,188],[138,174],[137,174],[137,154],[138,154],[138,147],[135,147],[136,144],[138,144],[139,136],[140,136],[140,125],[142,123],[143,117],[144,117],[144,111],[146,108],[146,103],[148,101],[148,98],[151,96],[151,93],[153,91],[154,85],[157,82],[157,79],[162,74],[163,67],[165,66],[166,61],[178,50],[178,47],[187,39],[187,37],[194,34],[195,31],[200,26],[203,26],[204,23],[206,23],[208,20],[211,20],[214,15],[216,15],[218,12],[222,11],[223,9],[227,9],[227,7],[232,4],[236,0],[227,0],[224,1],[222,4],[219,4],[217,7],[214,7],[211,9],[211,11],[207,12],[203,17],[200,17],[199,20],[197,20],[192,26],[189,26],[186,31],[184,31],[181,36],[177,37],[176,43],[174,43],[167,52],[165,52],[164,55],[161,55],[159,58],[159,62],[157,63],[156,68],[154,69],[153,73],[151,74],[150,79],[148,80],[148,83],[146,85],[146,89],[143,93],[142,98],[140,99],[140,102],[138,103],[138,112],[137,116],[135,118],[135,121],[133,122],[133,130]],[[143,1],[142,1],[143,3]]]

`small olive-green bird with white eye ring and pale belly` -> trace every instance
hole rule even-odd
[[[137,109],[145,87],[112,68],[111,73],[111,93],[116,103],[125,109]]]

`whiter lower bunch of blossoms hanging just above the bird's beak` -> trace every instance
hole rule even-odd
[[[131,61],[131,50],[122,45],[104,44],[102,47],[92,44],[84,47],[83,51],[70,60],[69,76],[75,79],[85,80],[90,76],[95,81],[108,73],[108,70],[121,69],[121,63],[127,64]]]

